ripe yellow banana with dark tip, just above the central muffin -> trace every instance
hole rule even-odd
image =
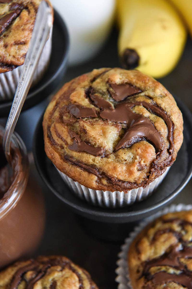
[[[117,20],[123,68],[157,78],[174,68],[187,33],[168,0],[117,0]]]

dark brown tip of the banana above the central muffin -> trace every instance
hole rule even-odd
[[[140,57],[136,50],[125,49],[121,56],[121,64],[124,69],[134,69],[139,65]]]

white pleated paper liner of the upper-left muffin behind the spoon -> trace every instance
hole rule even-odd
[[[43,77],[43,74],[48,68],[52,50],[52,31],[53,27],[50,30],[50,36],[47,40],[45,47],[43,48],[43,52],[39,59],[39,63],[37,65],[37,69],[34,73],[32,87],[37,84],[39,80]],[[7,71],[5,73],[0,73],[0,101],[12,100],[17,84],[19,82],[19,77],[22,72],[23,65],[14,68],[12,71]]]

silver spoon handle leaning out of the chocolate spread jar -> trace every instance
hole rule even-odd
[[[41,56],[45,43],[49,38],[51,26],[51,8],[45,0],[42,0],[39,5],[29,49],[26,54],[22,73],[19,78],[18,86],[5,127],[3,150],[7,162],[9,163],[11,162],[10,143],[12,134],[18,121],[23,103],[31,86],[33,74],[39,62],[39,58]]]

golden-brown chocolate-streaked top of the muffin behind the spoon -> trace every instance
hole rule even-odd
[[[0,73],[24,63],[40,2],[0,0]]]

